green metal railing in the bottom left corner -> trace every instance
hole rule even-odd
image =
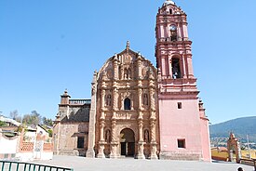
[[[1,171],[74,171],[73,168],[10,161],[0,161],[0,168]]]

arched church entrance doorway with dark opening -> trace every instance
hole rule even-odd
[[[120,147],[122,156],[133,157],[135,154],[135,137],[134,132],[125,128],[120,133]]]

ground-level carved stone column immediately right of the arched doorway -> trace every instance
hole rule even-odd
[[[143,122],[139,120],[139,142],[138,142],[138,159],[145,159],[144,155],[144,141],[143,141]]]

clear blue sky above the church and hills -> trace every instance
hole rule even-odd
[[[55,118],[60,95],[90,99],[95,70],[126,42],[155,64],[164,0],[1,0],[0,112]],[[199,97],[211,124],[256,115],[256,1],[176,0],[188,15]]]

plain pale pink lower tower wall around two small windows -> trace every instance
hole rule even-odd
[[[178,109],[178,102],[182,102],[182,109]],[[202,151],[197,106],[197,99],[159,100],[161,151]],[[185,149],[178,148],[179,138],[185,139]]]

